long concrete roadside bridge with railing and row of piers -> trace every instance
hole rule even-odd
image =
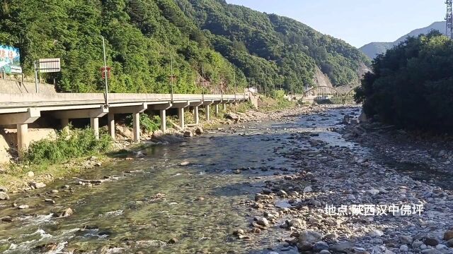
[[[185,128],[184,109],[194,109],[195,123],[199,121],[198,110],[205,107],[206,119],[210,119],[210,107],[219,114],[219,105],[246,102],[248,94],[241,95],[164,95],[164,94],[109,94],[108,105],[102,93],[55,93],[55,94],[1,94],[0,126],[16,126],[18,150],[26,150],[28,124],[35,122],[42,114],[61,121],[62,128],[71,119],[90,119],[96,137],[99,137],[99,119],[108,118],[108,130],[115,138],[115,114],[132,114],[134,142],[140,140],[139,114],[146,111],[159,111],[161,131],[166,132],[166,110],[178,109],[180,128]]]

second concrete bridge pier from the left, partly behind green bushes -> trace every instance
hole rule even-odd
[[[55,111],[53,116],[55,119],[60,119],[62,128],[66,128],[69,119],[90,119],[90,126],[94,135],[99,139],[99,118],[108,114],[108,109],[103,106],[98,109],[74,109]],[[65,124],[65,125],[63,125]]]

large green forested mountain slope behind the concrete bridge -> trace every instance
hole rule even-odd
[[[33,61],[60,57],[59,90],[102,90],[102,39],[113,92],[231,92],[258,85],[302,90],[318,66],[333,85],[357,83],[369,60],[349,44],[295,20],[224,0],[2,0],[0,44],[21,50],[29,75]],[[207,82],[202,82],[204,75]]]

